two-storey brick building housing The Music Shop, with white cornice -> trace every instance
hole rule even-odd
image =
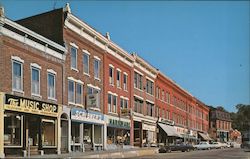
[[[65,48],[0,15],[0,157],[56,153]]]

